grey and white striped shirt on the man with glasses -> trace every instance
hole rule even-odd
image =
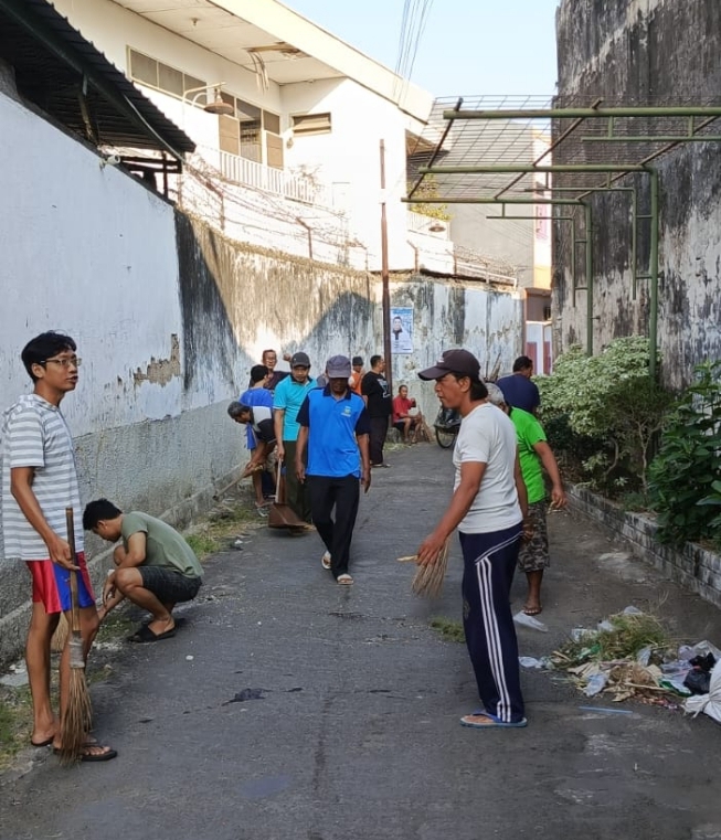
[[[75,547],[83,551],[83,517],[75,451],[60,408],[25,394],[2,415],[2,536],[4,556],[47,560],[47,546],[28,522],[10,491],[10,470],[34,467],[32,482],[47,524],[66,539],[65,508],[72,507]]]

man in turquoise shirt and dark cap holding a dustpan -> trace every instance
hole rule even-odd
[[[293,512],[310,525],[310,499],[304,483],[296,478],[296,440],[298,410],[315,387],[310,379],[310,359],[298,352],[290,357],[290,375],[278,382],[273,394],[273,415],[278,458],[285,464],[286,501]]]

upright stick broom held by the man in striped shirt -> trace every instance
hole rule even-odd
[[[71,550],[71,559],[77,565],[77,552],[75,550],[75,524],[73,509],[65,508],[65,521],[67,523],[67,542]],[[91,730],[93,710],[91,698],[85,680],[85,657],[83,655],[83,638],[81,636],[81,609],[77,603],[77,572],[70,572],[70,591],[72,618],[70,626],[70,640],[67,642],[70,655],[70,684],[65,702],[65,712],[61,721],[60,748],[61,764],[74,764],[81,759],[85,738]]]

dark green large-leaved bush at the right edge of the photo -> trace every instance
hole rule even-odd
[[[721,361],[700,364],[677,401],[650,465],[658,536],[721,545]]]

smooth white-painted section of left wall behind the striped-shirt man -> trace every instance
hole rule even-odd
[[[172,208],[2,95],[0,123],[0,189],[12,196],[0,206],[0,402],[28,389],[18,350],[31,336],[76,333],[92,312],[78,349],[82,387],[65,407],[74,432],[179,413],[179,378],[134,382],[151,360],[170,357],[171,336],[182,340]]]

